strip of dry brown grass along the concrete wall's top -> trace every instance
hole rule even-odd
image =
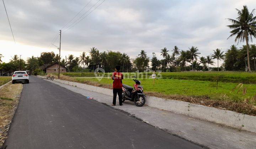
[[[60,75],[60,79],[112,89],[111,84],[100,84],[92,81],[78,81],[75,78],[63,76],[63,75]],[[256,103],[256,96],[252,99],[245,99],[243,101],[240,101],[240,100],[230,101],[230,100],[224,100],[225,97],[221,97],[221,98],[216,97],[212,99],[212,98],[209,98],[208,96],[166,95],[158,92],[145,92],[145,94],[148,96],[186,101],[193,104],[215,107],[222,110],[230,110],[230,111],[235,111],[242,114],[256,116],[256,106],[254,105]]]

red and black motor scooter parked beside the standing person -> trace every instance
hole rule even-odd
[[[133,79],[135,84],[134,89],[129,85],[123,84],[122,87],[122,101],[130,100],[133,101],[136,106],[143,106],[146,102],[146,95],[143,93],[143,87],[140,86],[140,81]]]

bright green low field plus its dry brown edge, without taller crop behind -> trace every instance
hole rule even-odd
[[[112,79],[68,77],[60,79],[112,89]],[[211,81],[193,81],[179,79],[140,79],[146,95],[165,99],[181,100],[194,104],[231,110],[256,116],[256,84],[243,84],[243,89],[236,88],[239,83]],[[132,79],[124,79],[123,84],[133,86]],[[245,90],[246,92],[243,92]],[[231,93],[230,93],[231,92]]]

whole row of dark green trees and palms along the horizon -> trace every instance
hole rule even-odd
[[[155,53],[152,59],[148,57],[145,50],[141,50],[140,54],[135,59],[131,59],[126,53],[115,51],[100,52],[97,48],[90,48],[89,55],[83,52],[79,57],[74,57],[70,54],[67,59],[62,59],[61,65],[68,68],[68,71],[74,72],[88,72],[94,71],[95,68],[103,68],[105,72],[114,71],[115,65],[121,65],[123,72],[143,72],[143,71],[195,71],[195,70],[209,70],[209,66],[214,64],[214,59],[217,60],[217,68],[213,70],[227,70],[227,71],[249,71],[254,68],[256,71],[256,46],[250,45],[249,41],[256,38],[256,16],[254,16],[255,9],[249,12],[247,6],[243,6],[238,10],[238,17],[236,19],[228,18],[232,23],[228,25],[230,29],[230,37],[235,36],[235,42],[246,42],[241,48],[231,45],[230,49],[221,51],[221,49],[213,50],[213,54],[199,57],[199,50],[196,46],[192,46],[188,50],[180,50],[177,46],[171,50],[167,48],[161,49],[161,56],[163,59],[158,60]],[[36,70],[42,65],[52,64],[58,62],[60,59],[58,54],[53,52],[41,53],[40,57],[30,57],[27,61],[19,59],[14,55],[9,63],[2,63],[2,55],[0,54],[0,70],[3,72],[13,72],[16,70]],[[224,60],[222,66],[219,67],[219,61]],[[151,67],[149,66],[151,62]]]

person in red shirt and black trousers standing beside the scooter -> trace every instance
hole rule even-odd
[[[119,105],[123,105],[122,104],[122,79],[123,79],[123,74],[120,72],[120,65],[116,65],[116,71],[113,72],[112,74],[112,80],[114,80],[113,82],[113,104],[112,106],[116,105],[116,96],[118,94],[118,98],[119,98]]]

